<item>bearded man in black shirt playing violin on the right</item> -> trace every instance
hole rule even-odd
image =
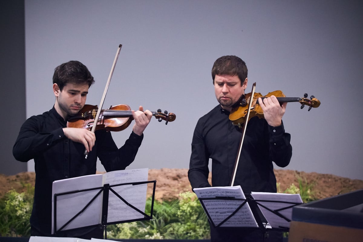
[[[212,186],[231,186],[234,165],[239,152],[242,130],[229,120],[236,102],[245,94],[247,67],[237,56],[223,56],[212,68],[212,79],[219,105],[201,117],[194,130],[188,178],[193,188],[209,187],[208,162],[212,159]],[[282,116],[286,103],[275,96],[258,98],[265,118],[248,121],[240,160],[233,185],[244,193],[276,192],[273,162],[280,167],[291,158],[290,134],[285,132]],[[268,236],[268,238],[264,238]],[[217,228],[211,225],[211,241],[282,241],[281,232],[241,228]]]

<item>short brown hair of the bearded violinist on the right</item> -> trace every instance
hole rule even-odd
[[[214,78],[216,75],[229,75],[238,76],[241,80],[241,86],[247,78],[248,70],[246,63],[237,56],[222,56],[219,57],[212,67],[212,78],[214,84]]]

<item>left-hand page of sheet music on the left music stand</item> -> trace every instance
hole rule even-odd
[[[54,194],[68,191],[77,191],[95,187],[102,187],[102,174],[74,177],[53,182],[52,189],[52,234],[54,234]],[[59,230],[74,215],[81,211],[87,203],[99,192],[97,190],[82,191],[78,193],[57,196],[57,228]],[[101,223],[102,194],[90,204],[83,213],[79,214],[64,229],[97,225]]]

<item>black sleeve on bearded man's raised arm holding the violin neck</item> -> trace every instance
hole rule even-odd
[[[289,165],[292,156],[292,146],[290,144],[290,134],[285,132],[284,124],[278,127],[269,125],[270,133],[270,158],[277,166],[285,167]]]

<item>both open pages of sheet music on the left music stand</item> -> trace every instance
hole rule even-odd
[[[145,182],[148,177],[148,169],[130,169],[107,172],[104,174],[94,174],[82,177],[68,178],[53,182],[52,189],[52,234],[59,230],[77,213],[79,213],[100,189],[81,191],[72,194],[57,196],[57,228],[54,228],[54,194],[69,191],[79,191],[96,187],[103,187],[103,184],[118,185],[130,182]],[[111,187],[127,203],[135,206],[141,211],[145,211],[147,183],[140,185],[121,185]],[[62,230],[101,224],[102,216],[102,193],[79,214],[72,222]],[[109,206],[107,222],[118,222],[131,219],[144,218],[144,215],[128,206],[119,199],[112,191],[109,193]]]

